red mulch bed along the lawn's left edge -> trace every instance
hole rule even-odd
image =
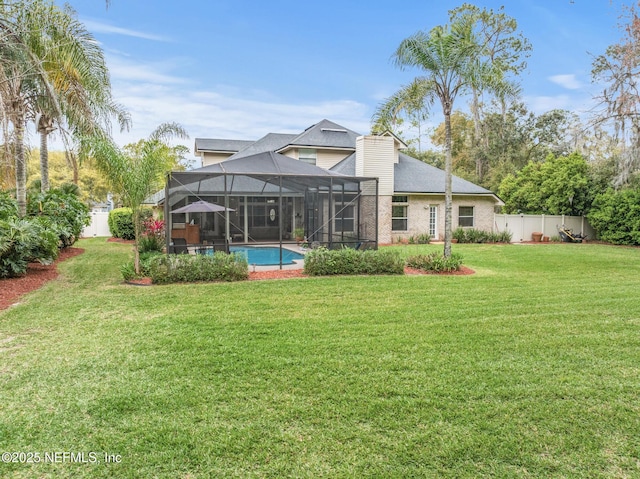
[[[82,248],[66,248],[60,251],[58,259],[48,266],[30,263],[27,274],[19,278],[0,279],[0,310],[16,303],[24,294],[40,288],[44,283],[58,277],[57,264],[68,258],[84,253]]]

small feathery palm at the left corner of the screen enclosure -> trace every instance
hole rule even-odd
[[[164,175],[171,169],[170,158],[175,149],[167,145],[172,137],[188,138],[177,123],[163,123],[148,139],[135,148],[121,150],[107,138],[84,140],[85,151],[90,152],[98,166],[109,178],[114,191],[122,195],[124,204],[131,208],[135,235],[135,270],[140,273],[138,245],[141,235],[140,212],[145,198],[157,191]]]

